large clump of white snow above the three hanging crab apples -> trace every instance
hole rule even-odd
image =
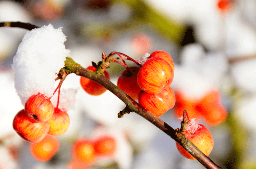
[[[46,97],[52,96],[56,73],[64,66],[65,58],[70,56],[65,41],[62,27],[54,29],[51,24],[24,35],[12,64],[15,89],[23,105],[38,92]]]

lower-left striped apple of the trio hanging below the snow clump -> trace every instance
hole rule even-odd
[[[49,130],[49,122],[37,122],[26,114],[25,110],[20,110],[13,119],[13,129],[24,140],[34,143],[42,140]]]

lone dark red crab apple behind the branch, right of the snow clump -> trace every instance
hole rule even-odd
[[[93,66],[89,66],[86,69],[90,70],[90,71],[93,71],[93,72],[97,71],[97,69]],[[105,75],[106,78],[108,78],[110,80],[109,73],[106,70],[104,71],[104,75]],[[81,84],[82,88],[88,94],[93,95],[93,96],[99,96],[107,90],[105,87],[101,86],[99,83],[94,82],[94,81],[92,81],[90,79],[87,79],[85,77],[80,78],[80,84]]]

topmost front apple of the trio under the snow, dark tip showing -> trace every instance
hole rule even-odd
[[[31,119],[41,122],[51,118],[54,107],[50,99],[38,93],[28,98],[24,110]]]

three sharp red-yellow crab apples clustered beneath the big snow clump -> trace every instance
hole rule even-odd
[[[14,130],[31,143],[41,141],[47,134],[62,135],[69,124],[69,115],[41,93],[30,96],[13,119]]]

